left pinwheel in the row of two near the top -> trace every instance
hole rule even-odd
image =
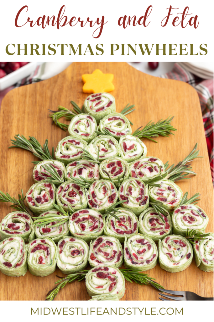
[[[70,135],[83,139],[86,142],[90,142],[97,136],[96,130],[96,119],[93,116],[83,113],[74,116],[68,126]]]

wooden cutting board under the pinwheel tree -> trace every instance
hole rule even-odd
[[[213,186],[206,139],[203,128],[201,107],[197,92],[190,85],[174,80],[161,79],[137,71],[125,62],[75,62],[55,77],[36,84],[10,91],[2,102],[0,115],[0,190],[17,197],[23,188],[24,194],[34,183],[33,164],[37,160],[30,152],[21,149],[8,149],[10,139],[15,134],[34,136],[41,144],[48,139],[48,145],[56,149],[57,143],[68,132],[52,125],[48,109],[58,105],[71,108],[70,100],[82,106],[88,94],[82,92],[81,75],[99,68],[104,73],[114,73],[116,111],[126,104],[135,104],[135,111],[129,115],[133,131],[153,120],[174,115],[175,136],[159,137],[158,143],[143,140],[148,156],[157,156],[164,163],[178,163],[193,149],[196,142],[200,156],[192,163],[197,173],[191,180],[183,180],[178,185],[189,192],[189,196],[199,192],[198,205],[208,214],[210,220],[206,232],[213,231]],[[0,205],[0,219],[12,211],[9,204]],[[201,296],[213,296],[213,273],[202,272],[191,266],[179,273],[168,273],[157,264],[147,272],[166,289],[193,291]],[[36,277],[28,271],[24,277],[8,277],[0,273],[0,300],[44,300],[47,292],[54,287],[56,274],[64,276],[59,269],[47,277]],[[158,300],[158,291],[151,286],[140,286],[126,282],[126,292],[122,300]],[[56,300],[88,300],[90,297],[85,282],[74,282],[60,291]]]

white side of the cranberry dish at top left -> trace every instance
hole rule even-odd
[[[16,71],[0,78],[0,90],[14,85],[17,81],[20,81],[22,78],[29,76],[37,66],[37,62],[29,62],[27,65],[20,67]]]

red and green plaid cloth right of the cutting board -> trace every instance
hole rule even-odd
[[[207,140],[207,148],[210,157],[210,170],[213,182],[213,79],[204,80],[198,76],[186,71],[179,63],[175,63],[173,70],[162,78],[169,78],[177,81],[185,81],[192,85],[197,91],[201,113],[203,116],[204,131]]]

